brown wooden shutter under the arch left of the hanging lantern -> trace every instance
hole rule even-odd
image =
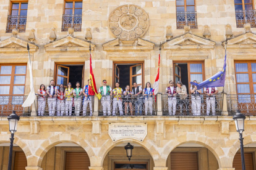
[[[86,152],[66,152],[65,170],[89,170],[90,159]]]

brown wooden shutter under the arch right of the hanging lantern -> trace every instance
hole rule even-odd
[[[171,170],[198,170],[197,152],[171,152]]]

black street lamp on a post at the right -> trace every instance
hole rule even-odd
[[[237,113],[233,116],[234,122],[236,124],[236,131],[239,132],[239,140],[240,140],[240,148],[241,148],[241,160],[242,160],[242,170],[245,170],[245,162],[244,162],[244,144],[242,138],[242,132],[244,131],[244,119],[245,116],[237,111]]]

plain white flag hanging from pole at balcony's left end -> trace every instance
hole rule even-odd
[[[30,53],[29,53],[29,46],[27,44],[27,50],[28,50],[28,68],[30,73],[30,93],[28,94],[27,99],[23,103],[22,107],[30,107],[32,103],[35,101],[35,90],[34,90],[34,83],[33,83],[33,75],[32,75],[32,65],[30,62]]]

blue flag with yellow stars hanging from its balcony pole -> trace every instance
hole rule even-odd
[[[219,71],[214,76],[211,76],[211,78],[208,78],[202,83],[197,84],[194,82],[190,82],[190,84],[197,86],[197,89],[202,89],[203,87],[224,87],[225,78],[226,78],[226,59],[227,59],[227,53],[225,51],[223,70]]]

